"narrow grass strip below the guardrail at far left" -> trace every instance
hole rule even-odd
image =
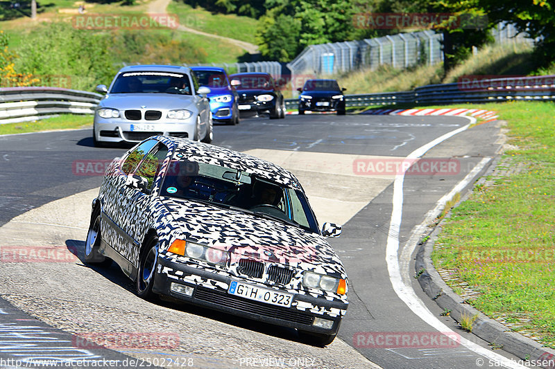
[[[0,134],[17,134],[49,131],[52,129],[78,129],[87,127],[91,127],[92,129],[92,114],[86,116],[63,114],[53,118],[35,120],[33,122],[0,125]]]

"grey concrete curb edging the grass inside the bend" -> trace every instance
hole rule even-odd
[[[494,163],[490,165],[488,172],[492,171],[497,166],[498,161],[499,159],[496,158]],[[480,179],[480,181],[482,181],[482,179]],[[471,191],[469,191],[461,201],[467,199],[470,192]],[[437,240],[438,233],[441,232],[442,224],[443,220],[434,227],[432,233],[429,233],[429,238],[420,245],[420,249],[418,249],[416,253],[415,269],[418,282],[426,294],[432,298],[432,300],[435,300],[439,307],[450,310],[450,316],[457,322],[461,321],[462,316],[477,316],[472,326],[472,333],[493,345],[494,348],[501,347],[506,352],[510,352],[520,359],[536,361],[536,363],[537,361],[548,362],[549,360],[554,360],[555,350],[546,348],[540,343],[533,341],[533,339],[513,332],[505,325],[489,318],[475,309],[475,307],[472,307],[472,305],[468,305],[461,296],[456,294],[451,287],[447,286],[432,263],[434,243]],[[549,363],[546,365],[549,365]],[[537,366],[540,368],[554,368],[554,366]]]

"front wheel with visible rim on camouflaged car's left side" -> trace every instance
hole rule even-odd
[[[155,294],[152,291],[154,276],[156,274],[156,264],[158,258],[158,237],[150,237],[144,243],[144,247],[139,255],[139,267],[137,268],[137,278],[135,278],[135,290],[137,296],[144,300],[153,300]]]

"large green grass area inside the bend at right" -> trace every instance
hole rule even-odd
[[[452,210],[432,259],[458,278],[453,287],[479,292],[470,303],[481,312],[555,348],[555,105],[472,107],[499,111],[513,146],[498,174]]]

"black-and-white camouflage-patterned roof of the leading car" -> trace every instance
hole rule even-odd
[[[191,141],[188,138],[172,136],[156,136],[155,138],[167,145],[169,150],[173,148],[172,160],[196,161],[197,163],[220,165],[226,168],[242,170],[255,174],[262,179],[280,183],[282,186],[302,190],[298,179],[291,172],[281,168],[279,165],[255,156],[225,147]]]

